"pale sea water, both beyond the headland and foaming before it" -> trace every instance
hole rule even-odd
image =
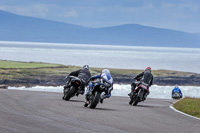
[[[98,68],[165,69],[200,74],[200,48],[0,41],[0,60],[45,62]],[[39,88],[39,89],[37,89]],[[200,87],[181,86],[184,96],[200,97]],[[62,87],[10,87],[62,92]],[[61,89],[61,90],[60,90]],[[173,86],[151,87],[151,98],[171,98]],[[130,85],[114,84],[113,95],[127,96]]]

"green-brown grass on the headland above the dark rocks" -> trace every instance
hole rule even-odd
[[[50,63],[42,63],[42,62],[18,62],[18,61],[6,61],[6,60],[0,60],[0,70],[11,70],[11,69],[42,69],[44,72],[50,71],[50,73],[60,73],[60,71],[65,71],[66,73],[69,73],[70,71],[80,69],[81,67],[78,66],[65,66],[65,65],[59,65],[59,64],[50,64]],[[48,70],[47,70],[48,69]],[[51,70],[50,70],[51,69]],[[53,69],[53,71],[52,71]],[[60,70],[62,69],[62,70]],[[104,68],[91,68],[91,72],[93,74],[100,73]],[[111,74],[113,75],[135,75],[139,74],[140,72],[144,70],[135,70],[135,69],[112,69],[109,68],[111,71]],[[41,71],[40,71],[41,72]],[[6,72],[5,72],[6,73]],[[170,70],[153,70],[152,71],[154,77],[189,77],[192,75],[195,75],[194,73],[190,72],[178,72],[178,71],[170,71]]]

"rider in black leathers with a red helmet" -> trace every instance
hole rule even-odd
[[[151,67],[147,67],[145,71],[138,74],[134,79],[139,80],[135,81],[131,84],[131,92],[128,94],[128,96],[131,95],[131,93],[135,93],[136,86],[139,86],[142,82],[148,84],[148,88],[153,84],[153,74],[151,73]],[[144,95],[144,100],[147,98],[147,95],[149,95],[149,89]]]

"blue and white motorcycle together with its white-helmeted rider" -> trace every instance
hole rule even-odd
[[[113,79],[109,70],[104,69],[101,74],[91,78],[89,87],[86,92],[85,107],[89,106],[94,109],[99,103],[103,93],[108,94],[109,88],[113,86]],[[109,94],[108,94],[109,95]]]

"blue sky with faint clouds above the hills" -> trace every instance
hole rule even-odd
[[[200,33],[200,0],[0,0],[0,10],[90,28],[140,24]]]

